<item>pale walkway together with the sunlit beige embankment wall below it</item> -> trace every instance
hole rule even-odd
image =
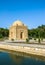
[[[0,49],[24,52],[45,57],[45,45],[0,42]]]

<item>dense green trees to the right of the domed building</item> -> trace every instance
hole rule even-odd
[[[45,25],[38,26],[35,29],[29,29],[28,36],[33,38],[45,38]]]

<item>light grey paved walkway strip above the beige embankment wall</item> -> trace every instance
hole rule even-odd
[[[32,47],[32,48],[42,48],[45,49],[45,45],[41,45],[41,44],[24,44],[24,43],[8,43],[8,42],[1,42],[0,44],[4,44],[4,45],[12,45],[12,46],[23,46],[23,47]]]

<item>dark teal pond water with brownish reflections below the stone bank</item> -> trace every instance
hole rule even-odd
[[[0,52],[0,65],[45,65],[45,58],[19,52]]]

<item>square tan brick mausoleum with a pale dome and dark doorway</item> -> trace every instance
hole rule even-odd
[[[28,29],[20,20],[15,21],[9,29],[9,40],[26,40]]]

